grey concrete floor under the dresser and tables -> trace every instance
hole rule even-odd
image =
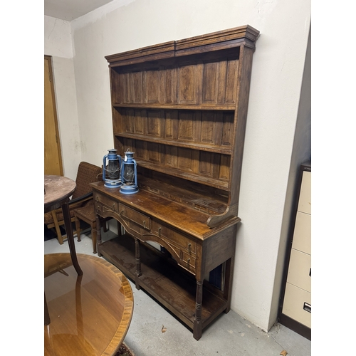
[[[114,237],[111,231],[103,234],[103,240]],[[83,231],[80,242],[75,238],[78,253],[93,255],[90,230]],[[57,239],[44,243],[44,253],[68,252],[68,242],[63,245]],[[98,255],[95,255],[98,256]],[[277,324],[264,332],[231,310],[221,314],[203,331],[199,341],[192,332],[157,304],[143,290],[131,283],[135,307],[125,343],[136,356],[274,356],[286,350],[290,356],[310,356],[311,342]],[[167,330],[162,333],[162,326]]]

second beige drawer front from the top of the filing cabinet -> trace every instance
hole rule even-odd
[[[311,255],[311,215],[297,211],[292,248]]]

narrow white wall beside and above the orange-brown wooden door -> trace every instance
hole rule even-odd
[[[81,147],[70,22],[44,16],[44,54],[52,56],[63,174],[75,179]]]

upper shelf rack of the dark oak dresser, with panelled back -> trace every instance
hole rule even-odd
[[[166,197],[173,178],[187,201],[206,191],[219,206],[206,209],[211,228],[238,213],[258,33],[247,25],[105,57],[117,153],[135,152],[140,189],[152,192],[150,177],[164,179]]]

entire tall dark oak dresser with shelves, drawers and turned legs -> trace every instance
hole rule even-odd
[[[241,26],[106,56],[117,154],[139,192],[92,184],[98,255],[193,331],[231,304],[241,162],[259,32]],[[125,234],[102,241],[100,219]],[[162,248],[156,248],[162,246]],[[219,286],[209,273],[221,267]]]

